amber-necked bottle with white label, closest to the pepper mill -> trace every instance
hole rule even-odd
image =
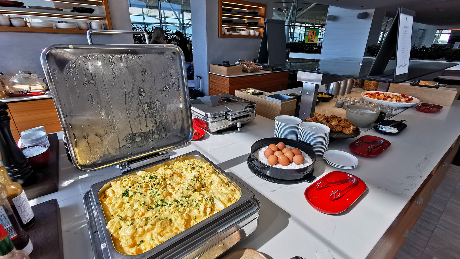
[[[30,228],[35,223],[35,215],[30,207],[29,200],[21,184],[11,181],[8,172],[0,161],[0,182],[5,185],[8,192],[7,199],[13,209],[14,215],[23,229]]]

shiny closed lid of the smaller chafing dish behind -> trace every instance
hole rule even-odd
[[[205,117],[224,116],[227,112],[238,112],[245,108],[254,108],[256,103],[231,94],[204,96],[190,100],[193,112]]]

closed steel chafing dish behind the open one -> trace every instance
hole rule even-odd
[[[256,117],[256,103],[231,94],[204,96],[190,100],[192,117],[201,128],[215,132],[242,124]]]

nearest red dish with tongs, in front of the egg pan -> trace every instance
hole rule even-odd
[[[331,201],[329,197],[335,190],[343,190],[348,187],[351,182],[337,184],[334,186],[326,187],[321,190],[316,189],[316,184],[322,180],[328,182],[334,182],[339,180],[344,180],[350,177],[355,177],[358,180],[357,186],[350,189],[348,192],[343,194],[343,197]],[[366,183],[364,183],[358,177],[345,173],[342,171],[333,171],[327,175],[321,177],[318,181],[311,184],[308,188],[305,189],[305,199],[308,203],[314,207],[317,211],[326,213],[326,214],[339,214],[344,212],[348,207],[353,204],[367,189]]]

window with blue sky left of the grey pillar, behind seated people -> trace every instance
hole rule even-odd
[[[161,27],[173,41],[171,34],[178,30],[191,43],[190,0],[128,0],[128,4],[133,30],[147,31],[150,36],[155,27]]]

